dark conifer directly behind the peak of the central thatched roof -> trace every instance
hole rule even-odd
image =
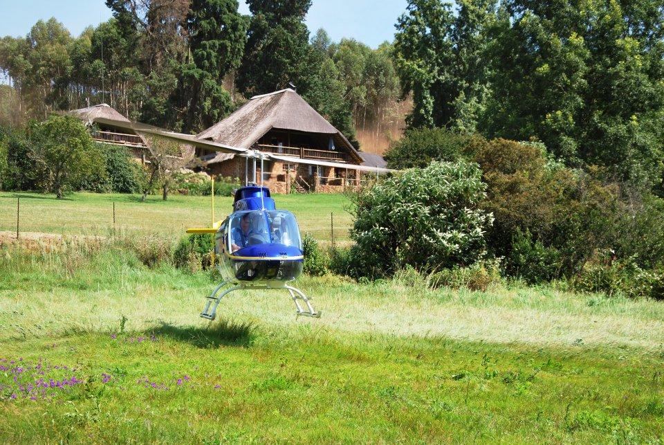
[[[293,82],[308,86],[308,37],[304,17],[311,0],[249,0],[252,13],[239,69],[238,87],[246,96],[270,93]]]

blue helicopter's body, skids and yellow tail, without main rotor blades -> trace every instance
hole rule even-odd
[[[212,215],[214,220],[214,195]],[[212,228],[191,228],[187,233],[214,234],[212,263],[219,258],[216,264],[223,278],[208,296],[201,317],[214,320],[221,298],[232,291],[285,289],[295,302],[297,316],[320,318],[320,311],[304,292],[288,285],[302,274],[302,238],[293,213],[277,210],[268,188],[239,188],[234,193],[233,212],[226,219],[213,222]]]

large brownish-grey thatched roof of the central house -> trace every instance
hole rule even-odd
[[[201,131],[196,137],[233,147],[250,148],[273,128],[329,134],[335,142],[357,154],[338,129],[290,88],[252,97],[228,118]]]

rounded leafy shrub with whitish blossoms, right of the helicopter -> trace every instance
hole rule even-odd
[[[490,213],[479,208],[486,185],[477,164],[434,162],[353,195],[351,255],[368,276],[407,264],[427,271],[470,265],[485,250]]]

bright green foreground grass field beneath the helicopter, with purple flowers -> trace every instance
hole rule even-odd
[[[89,230],[103,197],[74,198]],[[327,275],[297,282],[319,320],[241,291],[208,325],[213,285],[113,240],[0,246],[0,442],[664,440],[660,302]]]

